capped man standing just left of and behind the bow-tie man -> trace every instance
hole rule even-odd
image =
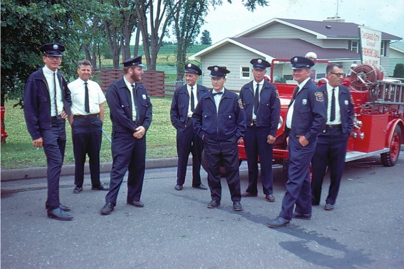
[[[207,190],[201,183],[201,158],[203,142],[194,130],[192,114],[198,105],[198,100],[207,92],[207,88],[198,85],[197,80],[202,70],[193,64],[185,65],[186,85],[175,90],[171,103],[171,123],[177,129],[177,185],[175,189],[181,191],[187,174],[188,156],[192,153],[192,187]]]

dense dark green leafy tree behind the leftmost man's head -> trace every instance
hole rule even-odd
[[[80,56],[83,23],[88,10],[98,10],[94,1],[2,0],[1,1],[1,105],[7,98],[22,105],[23,84],[43,66],[39,47],[57,42],[66,46],[61,69],[75,74]]]

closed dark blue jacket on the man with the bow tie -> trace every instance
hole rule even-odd
[[[219,111],[216,111],[212,91],[208,91],[202,95],[192,115],[194,129],[200,137],[221,141],[235,135],[238,140],[246,131],[246,114],[242,107],[240,97],[224,89]]]

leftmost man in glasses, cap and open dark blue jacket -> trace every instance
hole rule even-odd
[[[48,217],[70,220],[66,211],[70,208],[59,202],[59,177],[66,146],[66,118],[70,118],[70,91],[62,74],[58,71],[62,63],[61,44],[41,46],[44,53],[43,68],[33,72],[24,89],[24,116],[32,145],[44,147],[48,170],[48,199],[45,207]]]

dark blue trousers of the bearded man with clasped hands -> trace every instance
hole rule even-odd
[[[127,201],[140,201],[146,160],[146,135],[137,139],[131,133],[112,132],[111,151],[111,182],[105,202],[117,204],[118,192],[128,170]]]

